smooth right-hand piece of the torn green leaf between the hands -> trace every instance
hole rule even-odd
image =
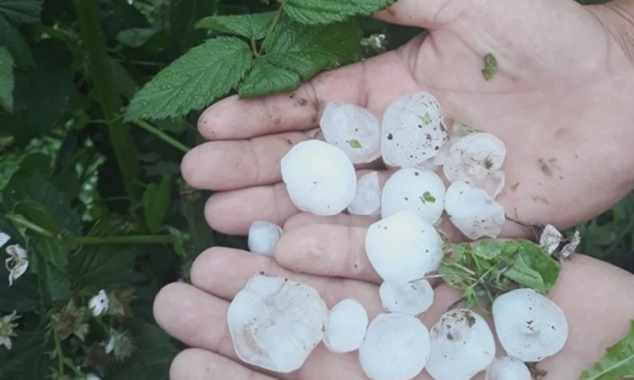
[[[523,239],[509,242],[505,254],[515,257],[515,261],[504,272],[504,277],[545,295],[550,293],[561,271],[557,260],[541,250],[538,244]]]

